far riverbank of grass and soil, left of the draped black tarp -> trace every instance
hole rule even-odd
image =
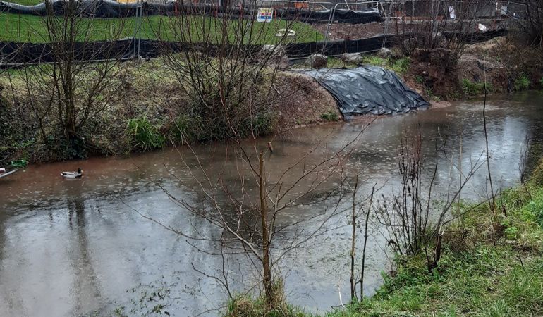
[[[53,139],[42,139],[39,115],[44,110],[25,105],[39,96],[28,93],[25,71],[9,70],[0,75],[0,166],[10,161],[30,163],[83,159],[85,156],[128,155],[151,151],[167,144],[207,142],[224,139],[225,129],[199,121],[193,113],[190,97],[179,88],[179,82],[160,59],[128,61],[116,66],[118,78],[114,100],[92,114],[80,131],[85,153],[63,150],[62,139],[54,125],[54,111],[42,115],[44,132]],[[28,74],[27,74],[28,75]],[[90,79],[92,82],[92,78]],[[278,134],[290,128],[341,120],[334,97],[311,77],[279,72],[269,104],[258,113],[245,113],[241,118],[257,135]],[[250,109],[248,109],[249,111]],[[219,111],[219,110],[217,110]],[[252,118],[252,116],[255,116]],[[242,129],[239,130],[240,132]],[[247,136],[247,135],[246,135]],[[84,155],[84,156],[83,156]]]

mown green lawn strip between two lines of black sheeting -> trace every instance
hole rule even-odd
[[[189,25],[187,21],[190,21],[191,39],[196,42],[208,39],[211,42],[219,42],[217,38],[220,32],[214,30],[222,30],[222,27],[219,26],[222,23],[220,18],[191,16],[190,18],[185,18],[187,20],[183,21],[183,24],[176,19],[180,18],[159,15],[145,17],[142,20],[139,37],[142,39],[157,39],[157,35],[159,35],[161,39],[176,41],[180,38],[175,36],[176,32],[172,30],[171,25],[177,23],[178,27],[176,29],[180,30],[179,25]],[[248,21],[243,20],[243,22],[239,22],[238,20],[232,20],[228,23],[228,37],[231,40],[234,39],[236,28],[240,26],[239,23],[248,23]],[[252,39],[249,41],[249,35],[246,35],[245,42],[251,42],[252,44],[276,44],[279,39],[279,37],[276,37],[277,32],[287,26],[296,32],[296,35],[289,38],[288,42],[313,42],[323,39],[323,36],[310,25],[300,22],[277,20],[273,23],[255,24]],[[135,31],[135,18],[85,18],[80,25],[80,29],[89,31],[90,40],[132,37]],[[183,29],[185,30],[184,27]],[[0,14],[0,41],[51,42],[47,34],[47,28],[42,17],[11,13]]]

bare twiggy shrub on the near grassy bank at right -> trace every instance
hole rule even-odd
[[[472,163],[468,171],[462,170],[454,161],[451,169],[462,175],[458,184],[449,185],[444,197],[436,196],[436,182],[439,153],[444,151],[435,144],[432,163],[422,156],[422,135],[404,137],[399,149],[398,172],[401,177],[401,189],[391,199],[383,198],[377,212],[379,222],[388,228],[389,246],[398,254],[413,255],[422,252],[427,259],[427,267],[432,271],[437,267],[441,256],[441,240],[446,224],[456,218],[451,209],[460,196],[463,187],[481,166],[481,158]],[[461,158],[460,158],[461,159]],[[429,171],[429,179],[425,178]],[[439,204],[437,204],[437,201]]]

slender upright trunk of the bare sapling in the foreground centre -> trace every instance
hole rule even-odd
[[[266,204],[266,181],[264,175],[264,152],[260,152],[260,173],[258,175],[260,186],[260,220],[262,221],[262,271],[264,277],[262,284],[264,286],[264,295],[267,309],[273,305],[273,290],[271,290],[271,268],[269,265],[269,232],[268,232],[268,206]]]

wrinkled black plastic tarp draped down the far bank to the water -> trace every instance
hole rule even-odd
[[[377,66],[351,69],[300,70],[310,75],[336,99],[348,120],[353,115],[407,113],[428,108],[425,99],[409,89],[390,70]]]

